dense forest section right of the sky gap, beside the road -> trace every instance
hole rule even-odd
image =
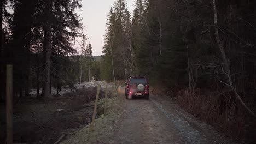
[[[106,24],[101,77],[127,81],[130,75],[146,75],[155,92],[175,97],[203,121],[236,139],[252,138],[255,5],[137,0],[130,14],[124,0],[116,1]]]

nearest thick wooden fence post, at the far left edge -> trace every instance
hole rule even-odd
[[[13,65],[6,67],[6,143],[13,143]]]

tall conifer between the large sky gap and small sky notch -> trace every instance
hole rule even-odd
[[[127,77],[128,73],[131,75],[134,70],[132,62],[132,47],[131,47],[131,16],[127,9],[127,2],[125,0],[118,0],[114,3],[114,13],[116,16],[117,38],[115,42],[115,49],[113,51],[116,61],[117,77],[123,79],[124,75]],[[127,62],[131,62],[127,65]],[[130,69],[130,70],[128,70]],[[122,75],[119,75],[122,74]],[[120,79],[119,78],[119,79]],[[127,78],[126,78],[127,79]]]

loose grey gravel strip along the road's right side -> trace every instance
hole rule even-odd
[[[235,141],[226,139],[223,134],[218,133],[210,125],[200,122],[194,116],[182,110],[174,101],[162,99],[156,95],[152,95],[150,100],[175,125],[179,131],[179,136],[187,143],[237,144]]]

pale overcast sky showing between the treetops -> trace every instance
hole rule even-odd
[[[84,33],[87,34],[87,43],[91,43],[92,55],[102,55],[107,15],[114,2],[117,0],[82,0],[82,11]],[[132,14],[135,0],[126,0],[128,9]],[[80,42],[80,41],[79,41]],[[78,49],[79,51],[79,49]]]

